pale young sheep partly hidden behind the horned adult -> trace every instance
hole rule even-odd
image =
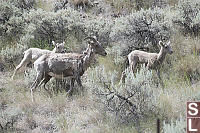
[[[30,62],[34,63],[43,54],[65,52],[65,48],[64,48],[65,42],[59,44],[59,43],[55,43],[54,41],[52,41],[52,43],[55,46],[55,48],[52,51],[46,50],[46,49],[39,49],[39,48],[29,48],[28,50],[26,50],[24,52],[24,58],[22,59],[20,64],[14,70],[12,79],[14,79],[16,72],[19,71],[23,66],[26,66]]]

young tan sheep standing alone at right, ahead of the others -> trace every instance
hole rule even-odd
[[[172,54],[172,48],[170,46],[170,41],[166,43],[165,45],[163,44],[162,41],[159,41],[159,45],[161,47],[159,53],[148,53],[140,50],[134,50],[127,56],[127,64],[126,67],[130,66],[131,71],[134,73],[135,68],[138,63],[145,64],[147,66],[147,69],[155,69],[157,71],[158,78],[161,81],[161,84],[163,86],[161,77],[160,77],[160,67],[161,64],[163,63],[166,54]],[[122,73],[122,82],[125,82],[125,71]]]

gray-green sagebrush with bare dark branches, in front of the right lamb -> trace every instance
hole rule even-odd
[[[87,85],[92,88],[95,100],[102,103],[106,112],[115,115],[118,122],[138,122],[150,112],[156,114],[154,96],[159,94],[153,90],[152,72],[142,67],[136,78],[130,71],[127,74],[122,84],[117,71],[107,72],[98,66],[89,73]]]

